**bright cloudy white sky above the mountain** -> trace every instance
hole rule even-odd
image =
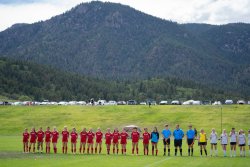
[[[33,23],[90,0],[0,0],[0,31],[15,23]],[[129,5],[179,23],[250,23],[250,0],[101,0]]]

